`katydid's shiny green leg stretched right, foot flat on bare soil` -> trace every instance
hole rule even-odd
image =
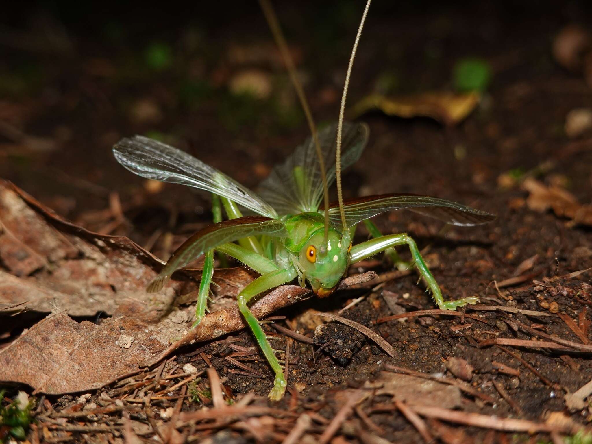
[[[369,256],[375,255],[389,247],[397,245],[407,244],[411,251],[411,256],[414,260],[414,265],[417,267],[417,271],[426,281],[427,287],[432,290],[432,297],[436,301],[439,308],[443,310],[456,310],[456,307],[463,307],[466,304],[477,304],[479,299],[477,297],[466,297],[456,301],[444,301],[442,298],[442,292],[436,282],[434,276],[427,268],[422,255],[417,249],[417,245],[411,237],[407,236],[406,233],[391,234],[389,236],[378,237],[377,239],[368,240],[367,242],[359,243],[352,247],[350,254],[352,255],[352,263],[358,262],[359,260],[369,258]]]

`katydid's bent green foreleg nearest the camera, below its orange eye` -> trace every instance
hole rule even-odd
[[[267,291],[268,289],[285,284],[286,282],[294,279],[296,276],[297,274],[294,270],[278,269],[276,271],[272,271],[271,273],[259,276],[259,278],[255,279],[255,281],[244,287],[238,296],[240,312],[243,314],[244,319],[247,321],[247,324],[249,324],[251,330],[253,330],[253,334],[255,334],[255,339],[259,343],[259,347],[261,348],[263,355],[265,355],[269,365],[275,372],[274,388],[272,388],[268,395],[269,399],[273,401],[280,400],[286,390],[287,383],[284,378],[284,369],[282,369],[281,365],[279,365],[278,358],[276,358],[274,355],[274,349],[272,349],[269,345],[269,342],[265,337],[265,332],[263,332],[263,329],[259,325],[259,321],[253,315],[247,306],[247,303],[251,298],[262,293],[263,291]]]

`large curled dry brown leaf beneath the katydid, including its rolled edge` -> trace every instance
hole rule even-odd
[[[159,259],[126,237],[102,236],[63,220],[9,182],[0,182],[0,223],[1,263],[8,269],[0,275],[3,313],[16,304],[22,309],[23,301],[37,311],[61,307],[0,350],[0,381],[47,394],[92,390],[151,366],[182,345],[246,327],[233,304],[208,314],[189,332],[194,308],[176,309],[173,303],[194,298],[191,277],[199,271],[184,269],[165,291],[146,294],[144,287],[162,266]],[[375,277],[373,272],[350,276],[340,288]],[[252,279],[240,268],[214,274],[219,295],[236,295]],[[251,308],[262,318],[310,294],[284,285]],[[97,325],[68,316],[99,310],[113,317]]]

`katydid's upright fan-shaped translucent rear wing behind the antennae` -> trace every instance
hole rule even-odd
[[[343,124],[342,169],[360,158],[368,134],[366,124]],[[327,185],[331,185],[335,179],[336,137],[337,124],[318,132],[327,170]],[[317,211],[323,199],[323,180],[313,138],[309,137],[284,163],[276,165],[269,177],[259,185],[258,192],[281,215]]]

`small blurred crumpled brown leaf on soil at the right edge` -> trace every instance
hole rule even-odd
[[[526,205],[530,210],[544,213],[553,210],[558,217],[572,220],[574,225],[592,226],[592,205],[582,205],[570,192],[558,186],[546,186],[533,178],[527,178],[522,184],[528,191]]]

